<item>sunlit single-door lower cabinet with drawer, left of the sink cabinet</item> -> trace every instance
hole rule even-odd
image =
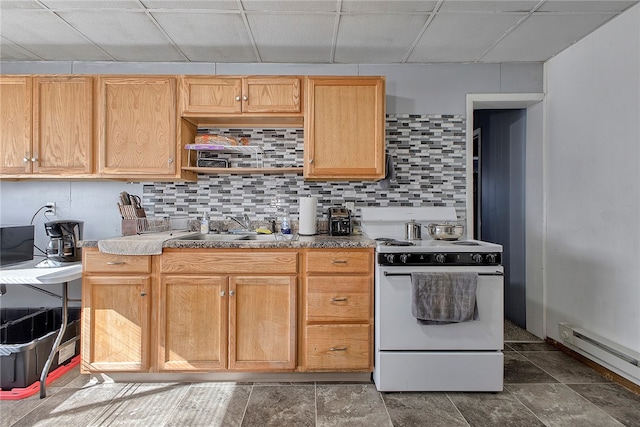
[[[85,250],[83,263],[82,371],[148,371],[151,257]]]

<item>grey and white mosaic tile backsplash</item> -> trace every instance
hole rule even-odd
[[[459,115],[388,115],[386,147],[395,180],[387,189],[378,182],[311,182],[295,174],[199,175],[194,183],[150,183],[143,189],[148,215],[189,216],[208,212],[212,220],[248,214],[262,221],[288,209],[297,219],[298,199],[318,198],[318,219],[328,207],[453,206],[466,217],[465,118]],[[201,130],[202,131],[202,130]],[[229,154],[230,166],[302,166],[302,129],[210,129],[220,135],[248,138],[257,154]]]

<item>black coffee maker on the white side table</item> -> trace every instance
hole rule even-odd
[[[47,259],[38,267],[59,267],[65,262],[82,260],[82,221],[60,220],[45,222],[44,230],[49,236]]]

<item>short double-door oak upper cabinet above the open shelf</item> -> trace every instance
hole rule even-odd
[[[181,115],[301,113],[301,91],[295,76],[183,76]]]

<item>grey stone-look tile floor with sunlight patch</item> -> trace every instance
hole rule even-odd
[[[640,396],[505,325],[501,393],[379,393],[373,384],[96,384],[0,401],[0,426],[640,426]]]

